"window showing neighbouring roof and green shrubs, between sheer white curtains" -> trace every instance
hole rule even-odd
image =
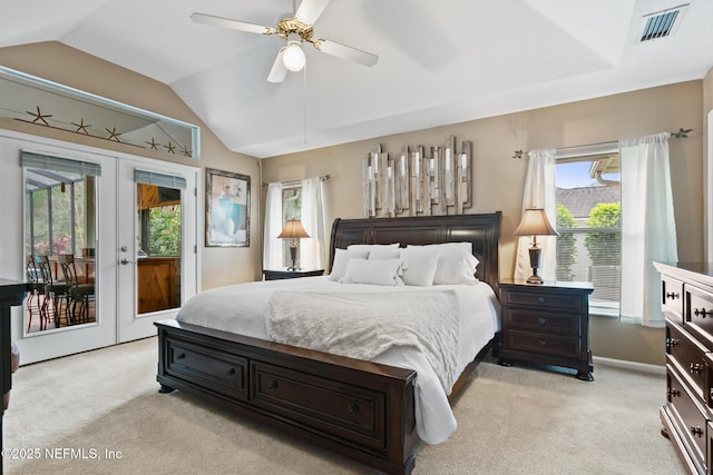
[[[556,161],[557,279],[594,284],[593,313],[618,316],[622,228],[618,150]]]

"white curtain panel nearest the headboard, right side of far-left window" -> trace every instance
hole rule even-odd
[[[310,238],[300,239],[300,267],[324,269],[324,199],[322,178],[302,180],[300,220]]]

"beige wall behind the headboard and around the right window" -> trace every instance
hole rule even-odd
[[[473,208],[502,211],[500,276],[512,275],[526,159],[515,150],[559,148],[637,137],[680,127],[694,131],[671,141],[672,181],[681,260],[703,258],[703,91],[688,81],[599,99],[473,120],[416,132],[377,137],[263,160],[263,181],[331,176],[325,186],[328,219],[363,216],[361,164],[374,145],[398,154],[403,145],[440,145],[448,136],[473,141]],[[309,136],[307,136],[309,140]],[[593,317],[594,355],[648,364],[664,363],[663,330]]]

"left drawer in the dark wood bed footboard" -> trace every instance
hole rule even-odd
[[[221,394],[247,399],[247,359],[168,339],[166,373]]]

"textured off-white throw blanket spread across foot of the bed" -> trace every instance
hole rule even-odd
[[[447,392],[457,376],[459,313],[452,290],[276,291],[267,304],[265,325],[274,342],[358,359],[413,347]]]

